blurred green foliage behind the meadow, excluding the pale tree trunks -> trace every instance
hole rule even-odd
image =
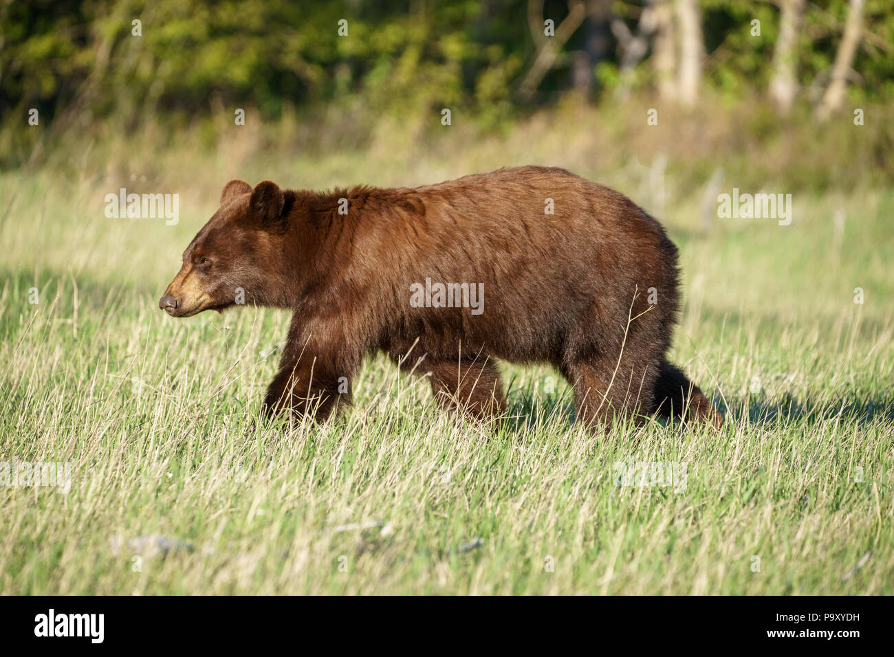
[[[636,31],[644,2],[615,2],[613,18]],[[705,80],[721,96],[762,91],[772,72],[779,9],[771,3],[704,0]],[[556,24],[564,2],[544,4]],[[798,44],[803,88],[824,84],[847,15],[846,0],[809,4]],[[515,93],[533,60],[526,0],[294,3],[287,0],[0,0],[0,114],[36,107],[50,118],[148,113],[195,117],[251,107],[277,116],[286,106],[362,103],[402,121],[446,105],[497,127],[521,101]],[[141,21],[141,36],[132,21]],[[347,21],[347,36],[339,21]],[[572,50],[602,29],[595,89],[620,84],[618,44],[609,19],[585,21],[561,48],[534,104],[571,85]],[[760,36],[751,21],[761,22]],[[894,92],[894,16],[869,0],[868,36],[850,93],[883,103]],[[639,68],[648,71],[648,55]],[[825,76],[825,78],[823,77]],[[654,84],[637,75],[638,87]]]

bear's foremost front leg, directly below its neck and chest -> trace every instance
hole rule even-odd
[[[361,358],[333,327],[296,324],[293,316],[279,373],[267,388],[264,415],[289,412],[293,420],[310,415],[322,422],[339,404],[350,404],[350,380]]]

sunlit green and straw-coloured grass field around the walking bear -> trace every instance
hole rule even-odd
[[[110,139],[0,173],[0,461],[72,467],[68,493],[0,485],[0,593],[894,593],[894,189],[795,193],[789,226],[723,220],[672,166],[662,202],[636,167],[528,130],[461,156]],[[567,166],[662,218],[686,283],[672,360],[721,433],[589,435],[557,373],[503,366],[513,417],[489,434],[382,358],[335,421],[255,429],[288,316],[157,307],[230,178],[411,185],[511,164]],[[179,193],[180,223],[105,218],[120,187]],[[637,463],[673,481],[619,485]]]

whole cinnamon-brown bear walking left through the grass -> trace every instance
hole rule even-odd
[[[558,369],[589,428],[723,422],[666,358],[677,248],[629,198],[560,168],[329,192],[230,181],[158,305],[189,317],[237,301],[292,312],[265,417],[325,420],[384,352],[479,420],[507,412],[503,360]]]

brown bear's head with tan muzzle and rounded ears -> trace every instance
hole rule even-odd
[[[242,303],[278,305],[271,283],[283,276],[276,263],[283,256],[287,195],[271,181],[254,190],[246,181],[226,183],[220,209],[183,251],[181,270],[158,307],[190,317]]]

